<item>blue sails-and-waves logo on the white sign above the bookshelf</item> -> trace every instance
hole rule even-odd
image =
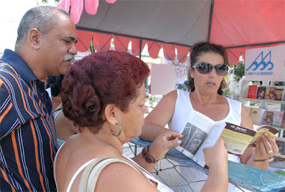
[[[269,56],[269,61],[266,63],[264,60]],[[260,60],[259,63],[257,60]],[[269,66],[269,67],[268,67]],[[254,68],[253,68],[254,67]],[[268,67],[268,68],[267,68]],[[251,68],[253,68],[252,70],[264,70],[267,68],[267,70],[272,70],[274,68],[273,63],[271,62],[271,50],[269,51],[269,53],[267,53],[267,55],[265,55],[265,57],[263,56],[263,51],[257,56],[257,58],[254,60],[254,62],[252,62],[252,65],[249,66],[249,68],[247,68],[246,70],[250,70]]]

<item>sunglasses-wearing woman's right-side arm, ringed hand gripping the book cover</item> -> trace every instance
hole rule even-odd
[[[249,114],[243,105],[241,126],[253,129],[252,119],[249,117]],[[272,152],[268,153],[270,150],[272,150]],[[268,159],[277,153],[278,146],[276,145],[275,137],[270,137],[269,134],[264,134],[261,139],[257,141],[257,146],[255,148],[247,147],[244,154],[241,156],[241,161],[242,164],[266,170],[269,166]],[[257,164],[254,161],[263,161],[263,163]]]

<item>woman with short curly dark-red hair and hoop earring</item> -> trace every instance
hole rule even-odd
[[[62,82],[63,113],[79,127],[80,133],[69,137],[56,154],[54,174],[58,191],[78,191],[83,172],[108,156],[128,163],[117,162],[102,168],[102,172],[95,171],[98,181],[94,191],[172,191],[147,171],[170,148],[181,144],[182,134],[160,134],[133,159],[123,156],[123,144],[142,132],[147,112],[145,80],[149,74],[147,65],[139,58],[111,50],[88,55],[68,68]],[[219,169],[210,171],[213,175],[204,189],[217,182],[227,188],[227,151],[222,140],[206,149],[205,154],[208,165]],[[218,156],[219,161],[210,160],[211,156]],[[217,166],[221,162],[222,166]],[[213,177],[217,175],[220,177]]]

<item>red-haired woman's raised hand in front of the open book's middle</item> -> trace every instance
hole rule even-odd
[[[209,168],[227,165],[227,149],[224,146],[222,137],[219,137],[214,146],[204,148],[203,152],[205,162]]]

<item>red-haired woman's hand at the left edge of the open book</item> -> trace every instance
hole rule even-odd
[[[150,146],[149,153],[156,160],[163,159],[167,151],[181,144],[183,135],[179,132],[168,131],[159,134]],[[178,139],[176,139],[178,138]]]

